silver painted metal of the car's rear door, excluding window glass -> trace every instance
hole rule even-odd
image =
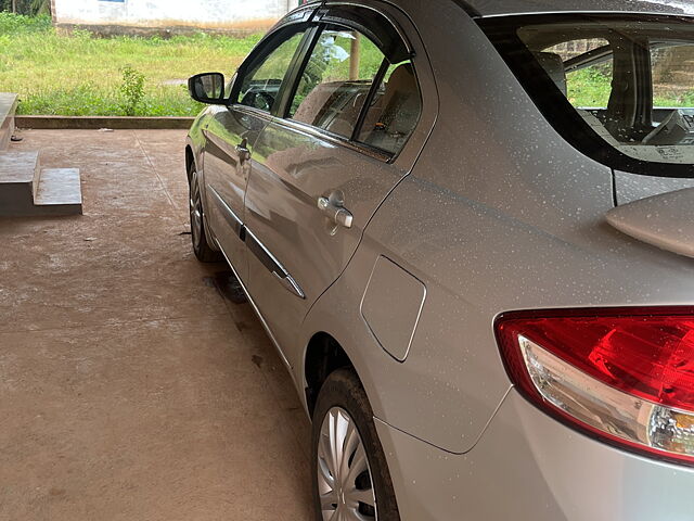
[[[363,2],[365,5],[377,2]],[[408,37],[422,91],[415,131],[393,161],[365,147],[292,120],[273,118],[254,151],[246,193],[246,226],[300,289],[286,283],[258,258],[249,257],[248,289],[291,365],[303,366],[297,325],[339,276],[363,229],[390,190],[410,171],[438,114],[438,96],[426,53],[400,11],[381,9]],[[348,23],[348,22],[345,22]],[[421,56],[421,58],[419,58]],[[335,224],[318,207],[319,198],[339,193],[354,216],[351,228]]]

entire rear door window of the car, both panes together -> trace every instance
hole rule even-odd
[[[420,119],[422,99],[412,62],[391,59],[364,35],[326,26],[300,76],[288,117],[399,152]],[[374,81],[378,86],[372,91]]]

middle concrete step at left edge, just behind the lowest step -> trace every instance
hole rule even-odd
[[[0,153],[0,215],[27,215],[23,209],[34,206],[38,174],[38,152]]]

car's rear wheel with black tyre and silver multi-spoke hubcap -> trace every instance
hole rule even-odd
[[[332,457],[337,452],[343,454],[342,458]],[[400,520],[373,411],[361,382],[351,369],[334,371],[320,390],[313,411],[311,454],[318,521]],[[335,465],[334,459],[340,461]],[[346,469],[344,465],[347,465]],[[345,478],[335,480],[338,474]],[[333,518],[338,508],[344,511],[351,509],[361,517]]]

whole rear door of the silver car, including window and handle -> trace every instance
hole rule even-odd
[[[332,5],[313,22],[256,141],[246,192],[248,290],[287,365],[301,320],[414,165],[437,109],[426,54],[399,11]]]

